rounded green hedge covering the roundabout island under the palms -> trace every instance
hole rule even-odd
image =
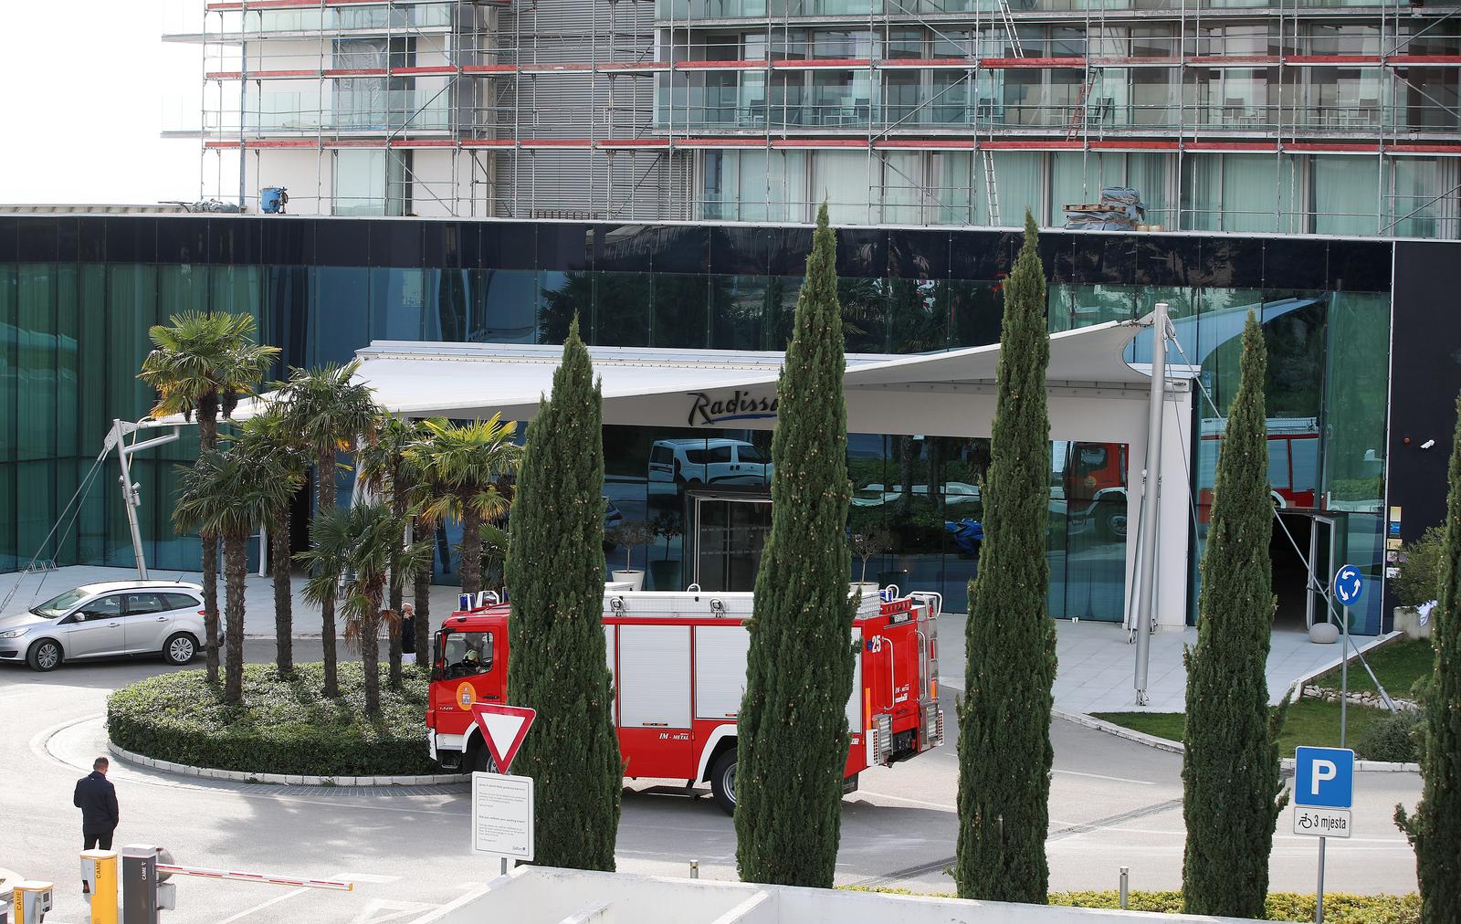
[[[364,671],[340,662],[343,696],[320,694],[321,664],[281,680],[272,664],[244,665],[244,705],[228,706],[203,671],[161,674],[107,699],[117,747],[190,766],[254,773],[392,776],[440,773],[427,753],[424,671],[406,668],[399,690],[381,665],[381,715],[364,716]]]

